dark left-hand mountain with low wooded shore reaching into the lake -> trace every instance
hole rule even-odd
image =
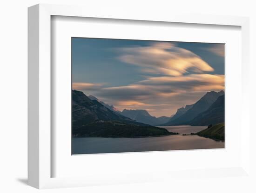
[[[119,115],[78,90],[72,90],[72,126],[74,137],[140,137],[177,134]]]

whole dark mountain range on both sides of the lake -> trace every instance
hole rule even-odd
[[[144,109],[119,111],[78,90],[72,91],[73,136],[135,137],[171,135],[157,125],[210,125],[224,122],[224,91],[207,92],[196,103],[177,109],[175,115],[155,117]]]

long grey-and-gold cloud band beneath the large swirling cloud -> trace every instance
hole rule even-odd
[[[184,92],[210,90],[224,90],[224,75],[190,74],[179,77],[148,77],[127,86],[102,88],[97,95],[117,101],[145,103],[143,101],[157,101],[157,98],[170,99]]]

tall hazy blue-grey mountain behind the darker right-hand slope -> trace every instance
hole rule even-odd
[[[165,125],[189,125],[190,121],[195,118],[198,114],[207,110],[219,96],[222,96],[224,91],[220,92],[207,92],[202,98],[200,98],[193,106],[188,109],[183,115],[178,118],[171,119]]]

